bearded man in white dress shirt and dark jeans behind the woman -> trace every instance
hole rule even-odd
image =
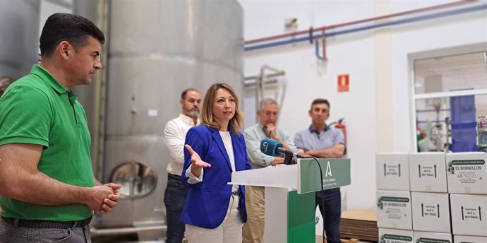
[[[184,223],[181,222],[181,211],[188,194],[188,189],[181,182],[181,173],[184,165],[184,139],[186,133],[200,121],[201,95],[198,90],[188,88],[181,93],[181,114],[168,121],[164,129],[164,142],[166,143],[171,159],[167,165],[167,187],[164,191],[164,204],[166,205],[167,243],[181,243],[184,237]]]

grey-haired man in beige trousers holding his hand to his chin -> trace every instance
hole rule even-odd
[[[291,141],[291,136],[276,127],[278,112],[279,106],[275,100],[270,98],[262,100],[257,111],[259,123],[244,131],[248,160],[251,161],[253,169],[260,169],[269,165],[282,164],[284,162],[283,157],[272,157],[260,152],[260,141],[264,138],[275,139],[282,143],[282,146],[285,149],[296,152],[296,147]],[[244,224],[243,242],[263,242],[265,212],[264,187],[246,186],[245,200],[247,223]]]

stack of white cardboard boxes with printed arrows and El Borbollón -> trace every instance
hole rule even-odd
[[[376,154],[380,242],[486,243],[486,160],[486,153]]]

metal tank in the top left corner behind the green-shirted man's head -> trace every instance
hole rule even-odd
[[[0,76],[18,79],[39,59],[38,0],[0,1]]]

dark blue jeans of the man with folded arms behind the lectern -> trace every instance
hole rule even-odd
[[[328,243],[340,243],[340,219],[342,218],[342,198],[340,189],[316,191],[315,206],[320,206]]]

